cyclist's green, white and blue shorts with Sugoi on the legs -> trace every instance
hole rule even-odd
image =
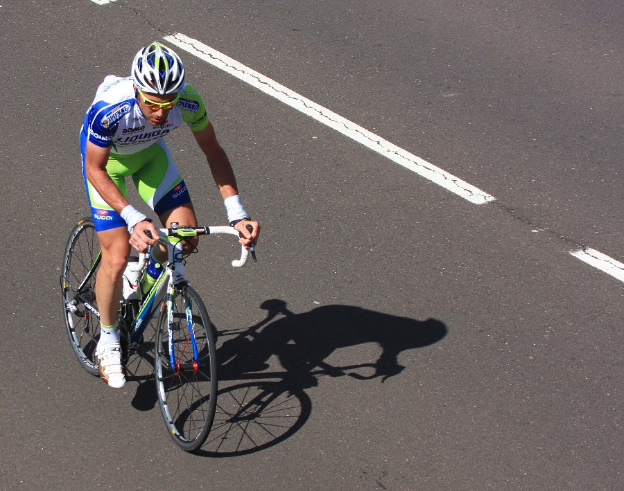
[[[87,141],[81,134],[80,152],[83,157],[83,177],[96,231],[127,226],[121,215],[104,201],[87,179],[86,151]],[[171,152],[162,139],[133,154],[111,153],[106,164],[106,171],[124,197],[127,195],[125,178],[131,176],[139,196],[157,215],[191,202],[184,179],[175,167]]]

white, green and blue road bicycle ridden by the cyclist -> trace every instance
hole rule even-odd
[[[183,244],[199,235],[239,233],[230,226],[191,227],[171,224],[157,229],[168,260],[153,286],[143,292],[149,251],[130,258],[123,276],[119,309],[122,361],[141,346],[148,323],[155,325],[154,378],[157,400],[168,433],[187,452],[205,442],[214,420],[218,393],[215,328],[207,309],[184,275]],[[242,267],[249,251],[232,266]],[[69,342],[81,366],[98,375],[95,350],[100,334],[95,278],[101,262],[94,222],[83,218],[69,235],[60,285]],[[140,278],[140,280],[137,280]]]

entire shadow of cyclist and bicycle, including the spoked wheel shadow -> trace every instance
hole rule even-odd
[[[384,383],[406,368],[399,364],[401,352],[447,334],[444,323],[435,319],[415,321],[348,305],[295,314],[286,302],[272,299],[261,308],[267,310],[263,321],[219,334],[226,338],[217,350],[220,383],[236,384],[219,391],[214,425],[199,455],[239,456],[272,447],[309,418],[312,402],[305,389],[318,386],[320,377],[379,378]],[[364,343],[379,346],[376,360],[346,367],[328,363],[336,350]],[[284,371],[269,371],[272,357]]]

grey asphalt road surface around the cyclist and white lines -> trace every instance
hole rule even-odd
[[[100,3],[0,2],[1,489],[622,488],[623,283],[570,253],[624,260],[621,2]],[[81,370],[58,287],[84,111],[175,33],[496,198],[177,49],[263,225],[257,265],[189,260],[223,364],[197,455],[146,363],[119,391]],[[168,144],[223,224],[190,132]]]

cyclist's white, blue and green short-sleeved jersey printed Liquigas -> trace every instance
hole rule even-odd
[[[180,100],[162,125],[150,125],[139,109],[132,78],[108,75],[98,87],[85,114],[83,136],[98,147],[112,147],[116,154],[133,154],[147,148],[171,130],[186,123],[198,132],[208,125],[202,98],[189,84],[180,90]]]

